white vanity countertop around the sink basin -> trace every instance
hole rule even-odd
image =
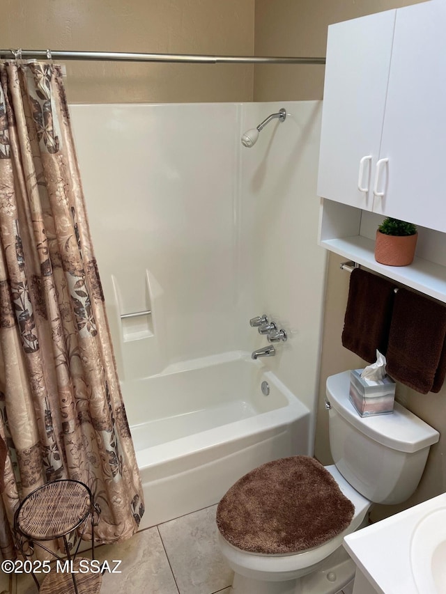
[[[426,515],[444,507],[446,493],[344,538],[348,554],[378,593],[420,594],[410,565],[412,536]]]

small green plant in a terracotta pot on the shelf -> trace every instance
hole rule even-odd
[[[413,262],[418,233],[413,223],[387,217],[376,231],[375,260],[387,266]]]

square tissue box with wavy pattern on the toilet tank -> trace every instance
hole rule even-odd
[[[350,372],[350,401],[361,416],[393,412],[395,382],[390,377],[372,382],[361,377],[362,369]]]

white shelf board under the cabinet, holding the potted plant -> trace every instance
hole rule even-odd
[[[417,257],[409,266],[385,266],[375,260],[375,242],[362,235],[321,240],[320,244],[339,256],[345,256],[348,260],[353,260],[369,270],[393,279],[395,283],[413,288],[446,303],[445,266]]]

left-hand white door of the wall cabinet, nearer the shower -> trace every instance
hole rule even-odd
[[[328,27],[318,195],[371,210],[395,10]],[[360,162],[363,171],[358,189]]]

